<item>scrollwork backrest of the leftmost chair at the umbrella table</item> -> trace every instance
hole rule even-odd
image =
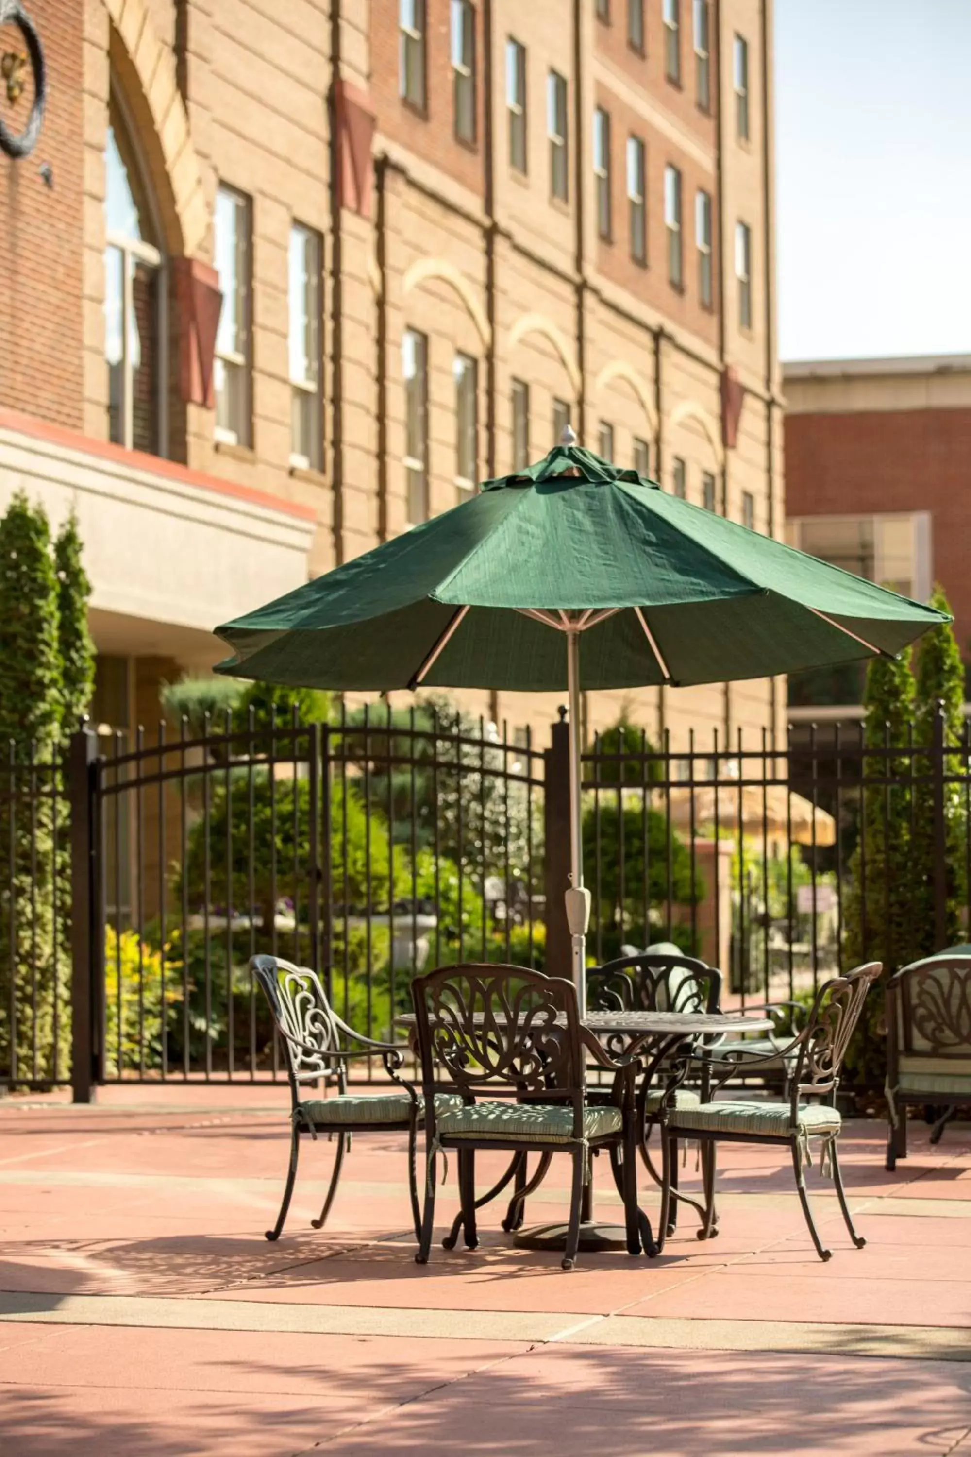
[[[290,1085],[336,1078],[344,1088],[341,1033],[316,972],[278,956],[255,956],[250,967],[263,988],[287,1058]]]

